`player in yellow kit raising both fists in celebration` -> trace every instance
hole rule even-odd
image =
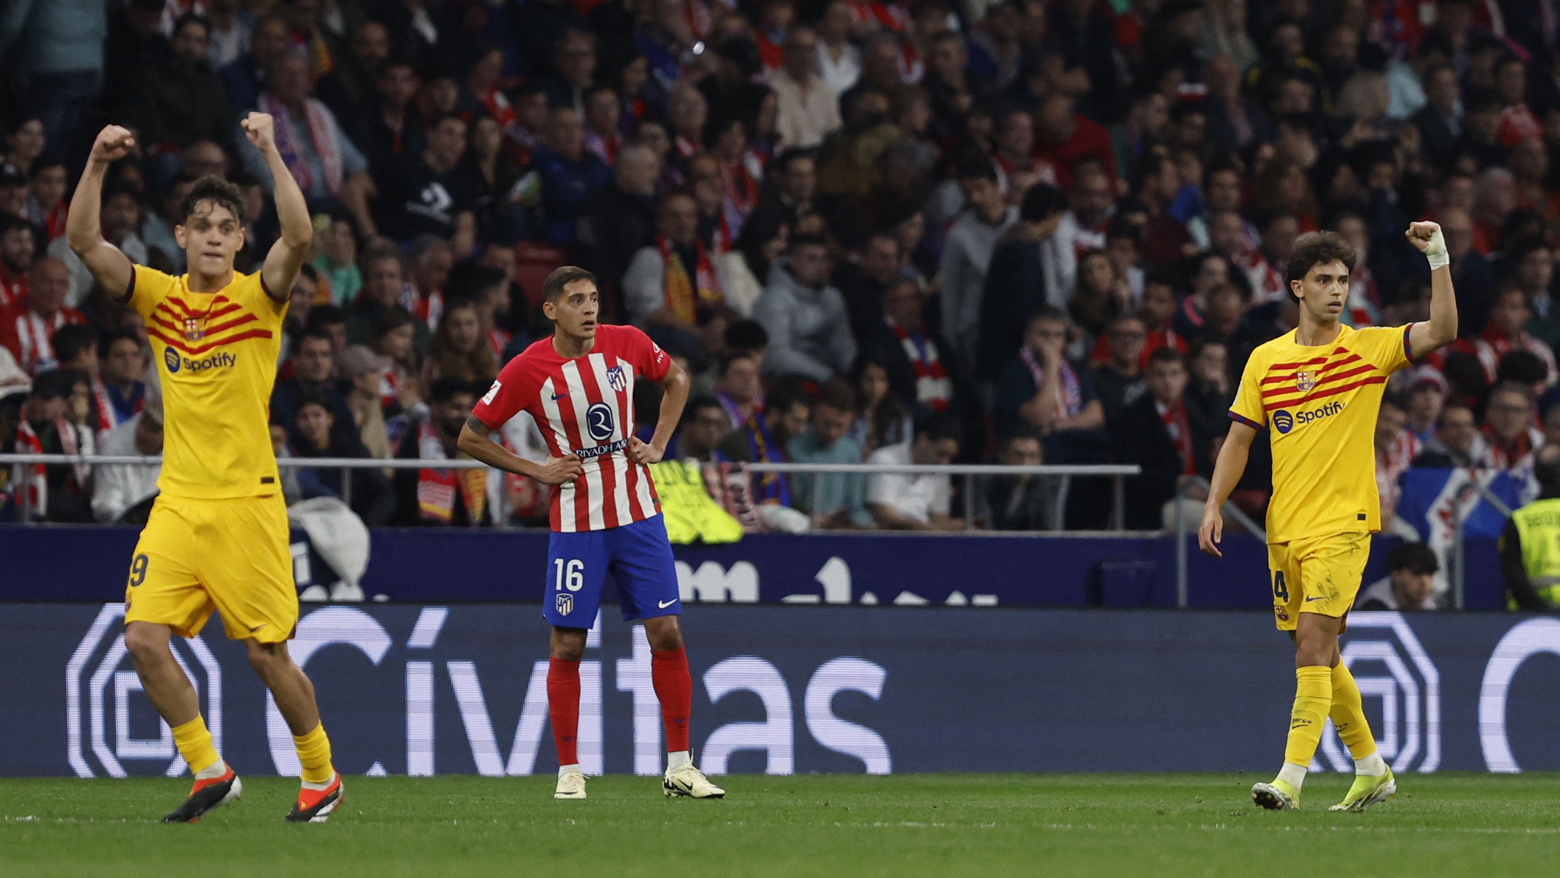
[[[232,270],[245,239],[243,200],[217,176],[195,181],[179,204],[173,237],[189,257],[187,274],[133,265],[103,240],[103,175],[136,148],[131,133],[117,125],[92,143],[66,228],[70,248],[97,282],[145,318],[162,379],[161,493],[129,565],[125,646],[195,774],[189,798],[167,822],[195,822],[243,791],[212,747],[195,688],[168,649],[172,635],[195,636],[212,610],[222,611],[228,636],[243,641],[298,747],[303,789],[287,820],[323,823],[342,802],[314,685],[287,653],[298,624],[298,589],[267,409],[282,315],[309,254],[312,225],[271,125],[261,112],[242,122],[271,172],[281,220],[281,239],[257,274]]]

